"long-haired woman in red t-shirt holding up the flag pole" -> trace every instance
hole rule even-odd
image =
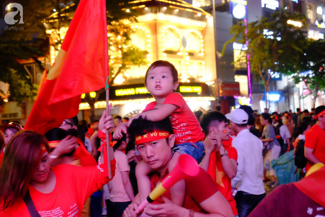
[[[106,130],[113,129],[110,115],[105,118],[104,113],[101,122]],[[109,148],[113,176],[115,159]],[[46,138],[35,131],[21,131],[10,140],[0,166],[0,217],[80,216],[85,199],[110,180],[105,160],[90,167],[50,167],[55,156],[48,152]]]

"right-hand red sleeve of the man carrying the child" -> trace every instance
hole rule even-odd
[[[196,177],[186,178],[185,181],[188,196],[197,204],[219,191],[211,176],[202,168],[200,168],[199,174]]]

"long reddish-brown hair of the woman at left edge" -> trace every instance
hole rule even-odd
[[[16,133],[6,145],[0,166],[0,210],[24,196],[30,174],[42,158],[42,144],[48,152],[45,136],[24,130]]]

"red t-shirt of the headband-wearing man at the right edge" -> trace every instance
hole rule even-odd
[[[306,133],[304,147],[314,149],[312,153],[318,160],[325,163],[325,130],[321,129],[317,124],[313,125]],[[307,159],[305,170],[308,171],[312,165],[313,163]]]

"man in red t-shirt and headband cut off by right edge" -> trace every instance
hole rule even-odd
[[[304,156],[307,158],[305,170],[315,163],[325,163],[325,106],[315,109],[316,124],[306,133]]]

